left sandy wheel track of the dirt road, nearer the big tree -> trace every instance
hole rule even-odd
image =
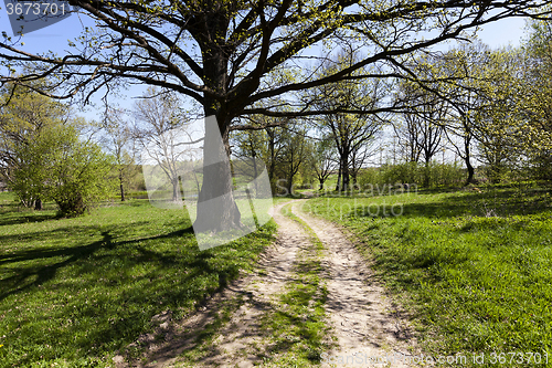
[[[257,272],[231,283],[223,292],[213,296],[204,307],[182,322],[163,325],[164,330],[157,330],[157,337],[148,334],[139,338],[147,345],[147,354],[142,361],[124,364],[121,356],[116,357],[118,367],[253,367],[269,356],[266,346],[267,332],[259,326],[265,313],[275,308],[277,296],[283,287],[291,281],[293,265],[299,248],[308,244],[309,236],[293,220],[285,218],[280,209],[275,208],[274,219],[279,225],[277,241],[258,259]],[[229,301],[242,299],[237,309],[233,311],[230,322],[224,323],[210,345],[206,356],[194,361],[183,361],[181,355],[192,351],[202,344],[202,332],[216,323],[224,313]],[[162,326],[161,326],[162,325]],[[159,334],[164,335],[159,341]],[[187,359],[188,360],[188,359]]]

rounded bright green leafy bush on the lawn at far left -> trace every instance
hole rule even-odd
[[[98,145],[82,141],[74,125],[45,127],[32,144],[18,145],[15,155],[13,191],[55,201],[61,215],[83,214],[113,188],[106,180],[112,159]]]

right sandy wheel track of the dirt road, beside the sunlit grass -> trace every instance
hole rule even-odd
[[[364,257],[331,222],[296,213],[327,248],[322,263],[328,273],[326,312],[338,347],[328,351],[326,366],[331,361],[339,367],[412,366],[420,356],[415,338],[406,320],[394,313]],[[340,364],[347,359],[350,365]]]

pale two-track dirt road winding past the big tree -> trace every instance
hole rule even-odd
[[[291,344],[282,344],[270,320],[288,312],[280,296],[300,278],[297,264],[316,253],[314,234],[323,244],[316,254],[326,291],[322,334],[328,349],[312,366],[412,367],[407,362],[420,351],[407,323],[393,313],[354,245],[335,224],[305,214],[304,203],[295,200],[275,208],[278,240],[262,254],[255,273],[232,283],[184,320],[172,320],[170,313],[158,316],[156,334],[137,341],[146,353],[132,364],[117,356],[117,367],[288,366],[283,361],[293,360],[293,353],[286,351]]]

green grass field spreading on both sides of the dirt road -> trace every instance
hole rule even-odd
[[[325,196],[304,209],[349,229],[425,351],[468,357],[453,366],[552,367],[550,188],[481,189]],[[190,225],[147,200],[56,219],[52,203],[21,210],[0,193],[0,367],[113,366],[153,316],[183,317],[251,270],[275,232],[200,252]]]

